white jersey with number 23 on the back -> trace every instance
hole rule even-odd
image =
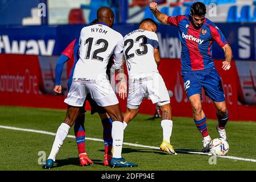
[[[129,77],[139,73],[158,72],[154,48],[159,48],[158,36],[147,30],[134,30],[124,38],[125,60]]]

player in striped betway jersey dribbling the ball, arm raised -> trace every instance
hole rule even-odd
[[[204,3],[195,2],[191,6],[190,15],[168,16],[157,10],[157,3],[150,3],[150,9],[156,19],[163,24],[174,25],[179,30],[181,42],[181,76],[187,98],[191,102],[193,119],[197,129],[203,135],[203,152],[209,151],[210,136],[207,130],[207,118],[202,110],[201,89],[210,97],[216,107],[218,118],[217,131],[219,137],[226,137],[225,125],[229,114],[225,104],[221,78],[214,68],[212,44],[214,41],[224,50],[225,61],[222,69],[231,67],[232,49],[220,29],[205,18]]]

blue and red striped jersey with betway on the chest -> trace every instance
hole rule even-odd
[[[214,67],[212,44],[214,40],[220,47],[227,43],[218,27],[205,18],[203,26],[196,29],[191,15],[168,16],[168,24],[177,26],[181,42],[181,69],[197,71]]]

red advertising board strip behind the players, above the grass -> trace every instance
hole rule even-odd
[[[67,65],[62,85],[63,95],[53,93],[55,64],[58,56],[0,54],[0,105],[66,109]],[[256,61],[233,61],[229,71],[221,69],[222,61],[214,61],[222,78],[226,105],[231,120],[256,121]],[[172,113],[176,117],[192,117],[192,110],[180,76],[179,59],[162,59],[159,72],[171,97]],[[118,82],[118,79],[117,79]],[[126,100],[119,98],[121,110]],[[203,110],[208,118],[217,119],[212,101],[203,92]],[[89,104],[86,109],[90,110]],[[154,114],[155,105],[145,98],[140,113]]]

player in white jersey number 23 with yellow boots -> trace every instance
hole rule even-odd
[[[170,96],[157,69],[160,63],[158,36],[155,34],[157,28],[158,25],[154,20],[146,18],[139,24],[138,30],[130,32],[124,38],[123,52],[129,73],[129,93],[123,127],[125,129],[127,123],[138,114],[139,106],[148,94],[152,103],[160,106],[163,113],[161,121],[163,142],[160,150],[176,155],[174,147],[170,144],[172,134]],[[123,94],[125,93],[121,93],[121,98],[125,97]]]

